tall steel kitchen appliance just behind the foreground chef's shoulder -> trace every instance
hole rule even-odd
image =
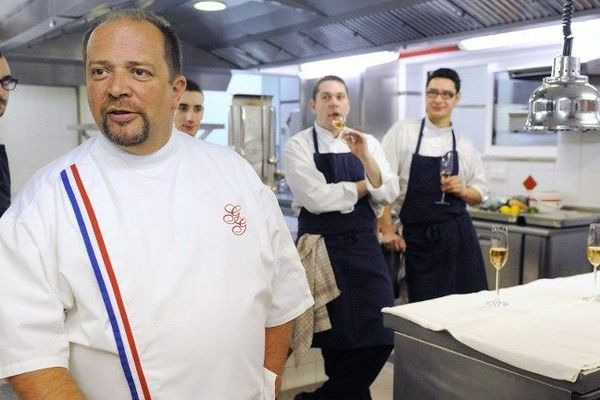
[[[229,113],[229,145],[273,191],[283,178],[277,169],[275,140],[272,96],[234,95]]]

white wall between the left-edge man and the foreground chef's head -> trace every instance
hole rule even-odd
[[[18,85],[0,118],[0,141],[6,145],[12,196],[31,175],[77,146],[77,89]]]

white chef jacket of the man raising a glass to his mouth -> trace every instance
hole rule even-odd
[[[330,131],[320,127],[316,122],[319,153],[348,153],[350,148],[339,135],[335,138]],[[315,146],[312,136],[313,128],[308,128],[292,136],[285,144],[283,151],[285,179],[288,182],[294,200],[292,208],[296,211],[304,207],[313,214],[331,211],[350,213],[358,201],[355,182],[327,183],[325,176],[317,169],[313,154]],[[383,212],[383,204],[394,201],[398,195],[398,177],[390,171],[389,164],[379,141],[372,135],[365,134],[367,146],[373,159],[379,166],[382,184],[374,188],[365,174],[370,203],[375,215]]]

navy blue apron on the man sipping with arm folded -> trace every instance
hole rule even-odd
[[[317,169],[327,183],[365,179],[360,160],[352,153],[319,153],[312,131]],[[392,283],[375,236],[375,214],[363,196],[348,214],[313,214],[302,208],[298,237],[323,235],[340,296],[327,304],[332,329],[316,333],[313,347],[352,349],[393,344],[393,333],[383,327],[382,307],[393,305]]]

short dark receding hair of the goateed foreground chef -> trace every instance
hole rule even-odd
[[[154,25],[163,35],[165,61],[169,66],[171,80],[175,79],[176,76],[181,75],[181,42],[179,41],[175,30],[169,21],[163,17],[156,15],[153,12],[141,9],[123,9],[111,11],[95,20],[83,36],[84,66],[87,62],[87,45],[90,40],[90,36],[96,30],[96,28],[104,23],[122,19],[129,19],[137,22],[148,22]]]

